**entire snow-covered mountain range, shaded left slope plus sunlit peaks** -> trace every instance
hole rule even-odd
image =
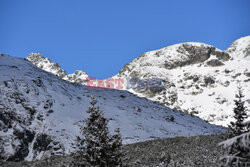
[[[111,132],[121,128],[124,143],[225,132],[209,123],[226,126],[232,120],[232,90],[239,83],[250,104],[249,39],[225,51],[202,43],[171,45],[146,52],[112,77],[135,77],[136,84],[159,78],[158,91],[127,88],[126,80],[123,90],[87,89],[87,73],[67,74],[40,53],[26,59],[1,54],[0,155],[21,161],[73,152],[91,95]]]

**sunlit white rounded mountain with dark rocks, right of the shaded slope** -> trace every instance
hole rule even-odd
[[[144,53],[113,78],[160,78],[161,91],[127,89],[141,97],[192,113],[210,123],[232,121],[237,86],[250,108],[250,36],[221,51],[202,43],[182,43]]]

